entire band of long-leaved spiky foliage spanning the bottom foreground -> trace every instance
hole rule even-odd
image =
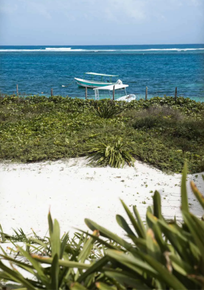
[[[33,239],[35,245],[26,243],[26,249],[17,246],[13,256],[0,255],[1,284],[9,282],[9,287],[20,289],[204,289],[204,217],[189,210],[186,178],[185,165],[182,223],[173,216],[164,219],[157,191],[145,223],[136,206],[130,210],[122,201],[128,220],[119,214],[116,220],[128,239],[89,219],[85,223],[92,234],[81,231],[72,239],[68,234],[60,237],[59,224],[49,213],[48,238]],[[204,209],[204,197],[194,182],[191,188]],[[0,234],[4,242],[9,239],[2,230]]]

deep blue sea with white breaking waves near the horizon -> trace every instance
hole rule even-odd
[[[53,88],[55,95],[83,97],[74,77],[85,72],[119,75],[114,81],[137,97],[146,86],[148,97],[173,95],[177,86],[178,95],[204,101],[204,44],[0,46],[1,93],[18,84],[25,95],[49,95]]]

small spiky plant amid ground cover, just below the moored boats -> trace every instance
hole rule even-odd
[[[98,109],[95,109],[94,107],[92,107],[92,110],[95,113],[95,115],[100,118],[111,119],[120,115],[124,111],[124,108],[119,107],[117,103],[115,102],[109,102],[109,103],[103,102],[98,107]]]

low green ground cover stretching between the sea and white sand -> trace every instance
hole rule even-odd
[[[88,145],[111,146],[113,136],[115,142],[120,136],[128,144],[133,158],[164,171],[181,172],[184,160],[192,173],[204,169],[204,103],[183,97],[130,103],[60,96],[0,98],[1,161],[87,156],[92,154]]]

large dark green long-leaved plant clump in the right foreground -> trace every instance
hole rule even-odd
[[[91,230],[98,230],[101,236],[122,246],[122,250],[106,251],[112,265],[105,274],[125,289],[204,289],[204,221],[189,211],[186,177],[187,166],[181,185],[181,226],[175,218],[170,224],[165,221],[157,191],[153,207],[147,209],[146,227],[137,208],[132,208],[133,215],[122,201],[130,225],[121,215],[117,215],[117,222],[131,242],[85,219]],[[204,208],[204,197],[193,181],[191,188]]]

